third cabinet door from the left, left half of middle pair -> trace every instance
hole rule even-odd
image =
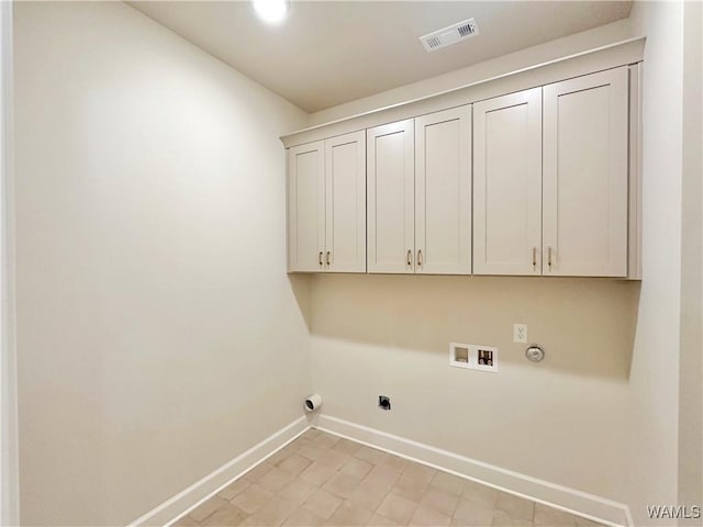
[[[414,272],[413,120],[367,130],[369,272]]]

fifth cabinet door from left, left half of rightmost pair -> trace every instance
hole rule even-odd
[[[473,104],[473,272],[542,273],[542,88]]]

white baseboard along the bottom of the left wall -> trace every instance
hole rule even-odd
[[[265,461],[309,428],[310,425],[304,416],[293,421],[290,425],[267,437],[258,445],[249,448],[246,452],[237,456],[231,461],[227,461],[225,464],[205,475],[200,481],[193,483],[188,489],[182,490],[174,497],[161,503],[134,522],[130,522],[129,526],[168,526],[175,523],[176,519],[215,495],[232,481]]]

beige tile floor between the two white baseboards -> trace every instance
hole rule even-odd
[[[175,525],[598,524],[311,429]]]

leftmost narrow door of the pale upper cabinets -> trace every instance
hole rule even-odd
[[[288,150],[288,270],[322,271],[325,246],[324,143]]]

